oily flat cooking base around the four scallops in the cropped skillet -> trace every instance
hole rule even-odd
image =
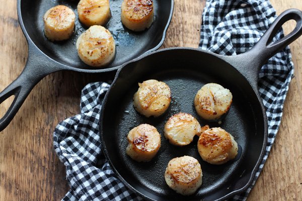
[[[147,50],[154,48],[159,43],[159,41],[154,43],[154,36],[158,35],[158,31],[154,25],[159,23],[157,22],[157,16],[160,15],[158,2],[154,1],[155,19],[153,25],[149,29],[142,32],[133,32],[122,25],[120,19],[122,2],[123,0],[110,1],[111,19],[107,25],[104,25],[104,27],[111,32],[116,44],[116,56],[114,61],[109,64],[109,67],[122,65],[123,63],[140,56],[142,54],[142,50],[146,52]],[[74,65],[74,67],[96,69],[81,61],[78,56],[77,48],[75,47],[75,43],[77,42],[79,36],[88,29],[88,27],[84,26],[79,21],[77,11],[78,3],[79,1],[71,0],[41,0],[39,3],[40,9],[37,11],[38,16],[34,19],[36,20],[36,26],[40,31],[40,33],[36,33],[36,39],[42,40],[42,42],[38,42],[36,45],[42,50],[47,48],[47,55],[55,58],[55,60],[59,59],[63,64],[70,65],[71,63]],[[48,41],[43,31],[43,16],[48,9],[56,5],[65,5],[71,8],[76,16],[75,31],[73,35],[70,39],[61,42]],[[161,39],[161,37],[156,40],[159,39]],[[44,44],[44,46],[39,47],[41,44]]]

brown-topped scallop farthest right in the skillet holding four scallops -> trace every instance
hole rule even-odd
[[[122,23],[132,31],[143,31],[153,23],[152,0],[124,0],[121,9]]]

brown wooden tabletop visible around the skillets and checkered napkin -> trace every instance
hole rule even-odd
[[[16,0],[0,0],[0,90],[22,71],[27,43],[18,23]],[[296,0],[271,0],[280,14],[302,10]],[[198,47],[205,0],[175,0],[174,16],[163,47]],[[284,25],[285,33],[294,27]],[[283,118],[264,170],[248,200],[302,200],[302,37],[290,45],[295,77]],[[55,126],[79,113],[81,89],[112,73],[56,72],[30,93],[12,123],[0,133],[0,200],[59,200],[69,189],[65,167],[52,146]],[[1,117],[9,104],[0,106]]]

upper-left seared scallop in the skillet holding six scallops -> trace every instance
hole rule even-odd
[[[171,91],[165,82],[149,79],[138,83],[138,86],[133,96],[137,112],[146,117],[158,117],[166,112],[171,102]]]

